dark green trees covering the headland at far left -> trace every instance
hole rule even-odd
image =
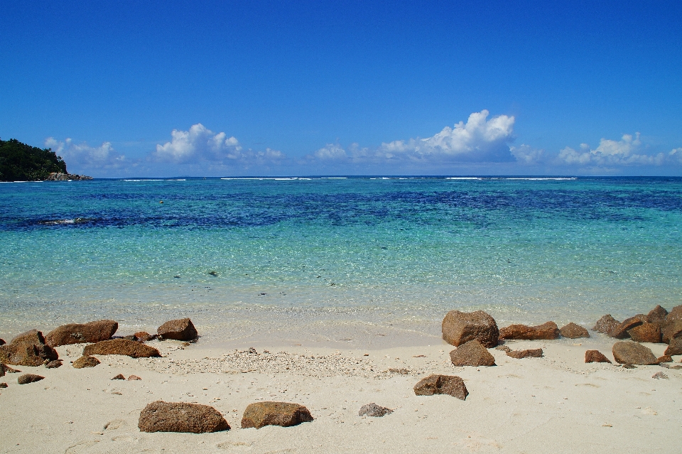
[[[52,172],[67,173],[66,163],[51,148],[0,140],[0,180],[45,180]]]

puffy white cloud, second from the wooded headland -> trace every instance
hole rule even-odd
[[[152,161],[162,163],[201,162],[229,165],[229,163],[266,163],[285,158],[281,151],[266,148],[265,151],[245,150],[234,136],[224,132],[215,134],[206,126],[193,124],[189,131],[173,129],[171,141],[157,144],[151,153]]]

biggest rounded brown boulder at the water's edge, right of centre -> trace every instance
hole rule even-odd
[[[443,340],[455,347],[477,339],[484,347],[492,348],[497,346],[499,337],[495,319],[482,310],[470,313],[450,310],[443,318],[441,330]]]

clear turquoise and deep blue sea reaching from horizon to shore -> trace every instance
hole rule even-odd
[[[681,225],[682,178],[4,183],[0,337],[190,316],[210,339],[418,338],[453,308],[592,325],[682,303]]]

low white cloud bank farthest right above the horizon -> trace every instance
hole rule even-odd
[[[676,154],[673,151],[670,156]],[[559,163],[577,166],[660,166],[666,161],[666,156],[664,153],[644,153],[638,132],[634,136],[624,134],[619,141],[601,139],[599,146],[593,150],[588,144],[580,144],[579,150],[567,146],[559,151],[557,159]]]

